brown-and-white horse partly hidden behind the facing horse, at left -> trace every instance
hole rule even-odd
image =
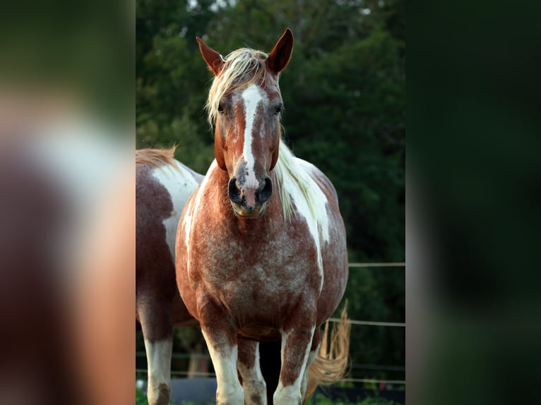
[[[136,322],[145,341],[150,405],[170,402],[173,326],[198,325],[175,282],[174,239],[203,176],[173,154],[174,148],[136,150]]]

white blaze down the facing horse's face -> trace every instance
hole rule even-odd
[[[256,174],[254,171],[256,159],[254,157],[254,152],[252,150],[252,143],[254,143],[254,122],[256,120],[257,107],[263,102],[263,104],[268,103],[266,95],[261,91],[261,89],[255,85],[251,84],[242,92],[242,99],[244,100],[244,122],[246,123],[244,127],[244,145],[242,147],[242,156],[246,161],[246,169],[248,171],[248,176],[246,176],[247,187],[258,186],[258,181],[256,179]],[[261,128],[255,128],[261,132]]]

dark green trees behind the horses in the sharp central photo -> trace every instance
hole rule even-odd
[[[177,159],[206,173],[212,75],[196,35],[223,55],[270,52],[286,27],[283,138],[333,181],[350,262],[403,262],[404,1],[136,0],[136,147],[178,145]],[[350,269],[345,298],[351,319],[405,322],[403,267]],[[403,379],[405,328],[352,325],[351,358],[352,377]]]

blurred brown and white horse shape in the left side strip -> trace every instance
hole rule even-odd
[[[132,148],[95,122],[57,118],[2,128],[0,403],[124,404],[135,368]]]

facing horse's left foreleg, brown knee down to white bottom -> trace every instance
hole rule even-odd
[[[199,315],[201,332],[216,373],[216,405],[242,405],[244,392],[237,374],[237,336],[227,322],[227,315],[212,303],[206,303]]]

